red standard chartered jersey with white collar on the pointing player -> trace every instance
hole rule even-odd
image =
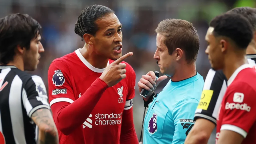
[[[108,65],[112,62],[113,60],[109,60]],[[82,125],[67,136],[59,130],[57,125],[60,143],[119,143],[123,112],[132,108],[132,98],[135,95],[135,72],[128,63],[125,64],[126,78],[115,86],[106,88],[89,117],[83,120]],[[81,95],[101,76],[103,71],[104,69],[98,69],[89,64],[79,49],[55,59],[48,71],[51,108],[58,102],[67,102],[69,105],[79,101]],[[55,123],[56,117],[58,114],[54,115]]]

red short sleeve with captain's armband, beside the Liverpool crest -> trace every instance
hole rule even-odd
[[[136,79],[136,74],[135,71],[133,70],[133,68],[127,64],[127,79],[128,79],[128,94],[126,97],[126,101],[125,101],[125,106],[124,106],[124,110],[128,110],[130,108],[132,108],[132,104],[133,104],[133,98],[135,96],[135,79]]]

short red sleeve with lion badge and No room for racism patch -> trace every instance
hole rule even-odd
[[[68,66],[61,60],[53,61],[48,70],[49,103],[74,102],[71,76]]]

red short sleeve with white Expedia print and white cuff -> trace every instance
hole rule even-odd
[[[256,92],[247,83],[230,85],[223,99],[222,126],[220,130],[231,130],[246,138],[256,120]]]

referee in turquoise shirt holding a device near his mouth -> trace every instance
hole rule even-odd
[[[144,106],[150,102],[144,119],[143,144],[180,144],[194,126],[194,112],[204,86],[195,64],[199,37],[195,27],[182,19],[161,21],[156,33],[154,59],[164,76],[156,79],[150,71],[138,82],[140,91],[142,88],[149,91]],[[171,80],[155,95],[155,88],[167,76]]]

